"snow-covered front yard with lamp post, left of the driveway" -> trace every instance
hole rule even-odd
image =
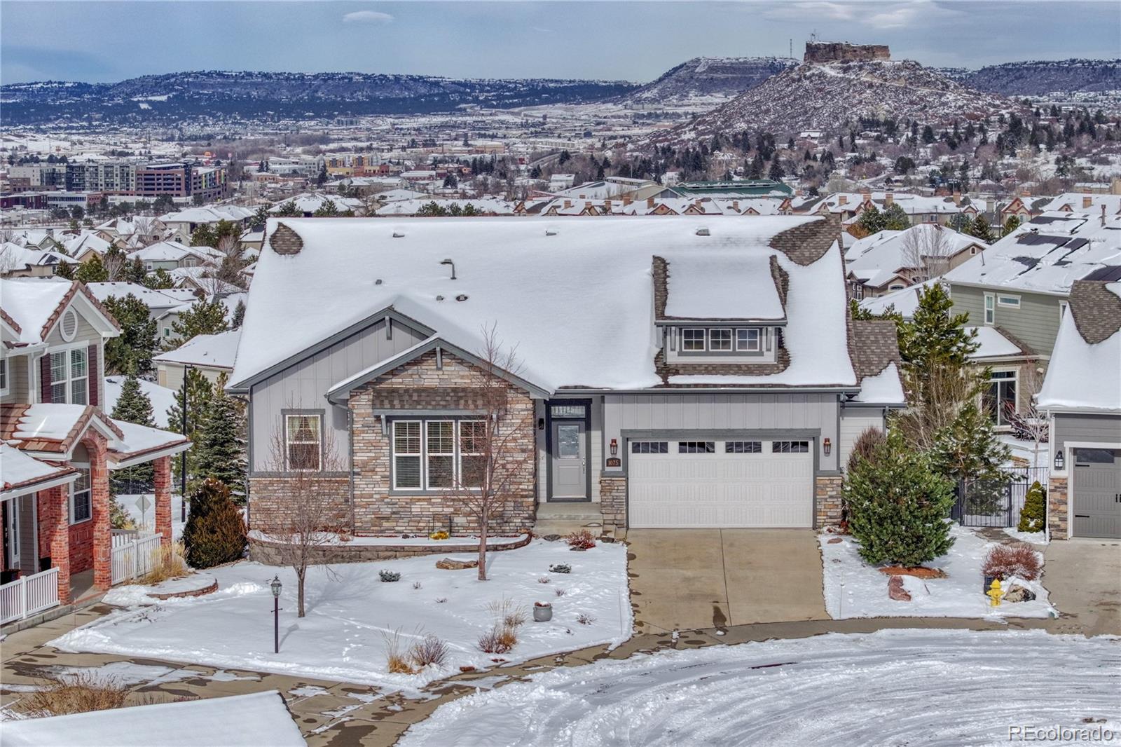
[[[215,593],[126,608],[52,645],[72,652],[150,656],[413,691],[461,666],[485,668],[494,660],[518,662],[597,644],[618,645],[631,635],[623,545],[572,552],[563,542],[535,541],[524,548],[492,552],[485,582],[478,580],[475,569],[437,570],[441,557],[348,563],[330,571],[312,568],[304,619],[296,617],[296,578],[290,569],[248,562],[210,569],[207,573],[219,582]],[[556,563],[569,564],[572,573],[550,573],[549,565]],[[381,569],[399,571],[401,580],[379,581]],[[284,582],[279,654],[272,653],[268,582],[274,574]],[[557,596],[557,589],[564,596]],[[518,630],[519,642],[511,652],[485,654],[476,642],[493,624],[489,606],[503,599],[525,606],[529,621]],[[532,621],[535,601],[553,603],[553,621]],[[577,620],[582,614],[593,618],[591,624]],[[447,642],[451,651],[445,665],[417,674],[390,674],[383,636],[393,630],[400,630],[405,648],[426,633]]]

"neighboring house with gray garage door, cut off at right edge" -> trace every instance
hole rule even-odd
[[[1078,280],[1037,403],[1050,418],[1053,538],[1121,538],[1121,271]]]

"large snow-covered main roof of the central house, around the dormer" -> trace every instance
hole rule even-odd
[[[806,233],[822,238],[826,227],[816,228],[822,220],[270,220],[232,386],[387,308],[466,351],[480,350],[484,325],[497,325],[504,344],[517,345],[521,378],[546,390],[660,386],[651,317],[654,258],[670,267],[689,265],[698,283],[707,267],[717,283],[738,259],[754,267],[760,258],[759,266],[766,267],[772,256],[789,280],[784,339],[790,363],[777,374],[742,381],[715,377],[713,382],[855,386],[835,241],[807,265],[770,246],[772,240],[784,248],[805,246],[794,237]],[[698,234],[702,227],[708,236]],[[793,231],[798,227],[809,230]],[[282,255],[272,248],[281,240]],[[445,258],[455,262],[458,279],[452,280],[450,268],[441,265]],[[766,277],[772,283],[769,271]]]

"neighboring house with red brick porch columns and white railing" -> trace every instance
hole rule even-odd
[[[104,342],[118,334],[81,283],[0,280],[2,622],[123,580],[111,563],[112,470],[155,463],[156,528],[172,540],[169,460],[189,442],[105,414]]]

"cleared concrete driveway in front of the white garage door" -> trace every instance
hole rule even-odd
[[[639,633],[827,620],[812,529],[629,529]]]

